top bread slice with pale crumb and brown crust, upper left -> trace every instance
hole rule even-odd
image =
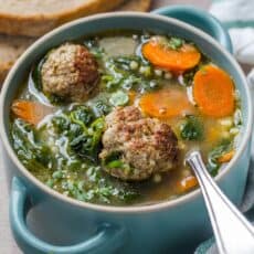
[[[0,32],[40,36],[84,15],[113,10],[124,0],[0,0]]]

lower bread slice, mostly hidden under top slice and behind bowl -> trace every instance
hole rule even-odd
[[[0,0],[0,2],[2,0]],[[151,0],[127,0],[118,7],[116,11],[147,11],[150,2]],[[0,84],[3,82],[15,60],[35,40],[36,38],[0,34]]]

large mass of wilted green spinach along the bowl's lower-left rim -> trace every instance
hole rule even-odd
[[[87,120],[83,115],[87,114],[87,110],[81,113],[83,107],[76,109],[74,119],[81,123]],[[59,148],[54,152],[46,141],[49,137],[46,140],[41,139],[43,131],[52,133],[52,127],[55,130],[54,146]],[[134,202],[139,194],[130,183],[112,178],[97,163],[84,159],[83,152],[89,152],[89,149],[97,147],[100,141],[104,119],[92,120],[85,127],[88,135],[84,133],[83,125],[72,120],[70,112],[55,115],[51,123],[40,129],[21,119],[14,119],[11,128],[13,148],[28,170],[65,195],[95,203]]]

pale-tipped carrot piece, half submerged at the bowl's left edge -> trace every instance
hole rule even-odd
[[[14,100],[11,106],[12,113],[32,124],[39,124],[46,115],[51,114],[53,109],[45,105],[42,105],[38,102],[30,102],[30,100]]]

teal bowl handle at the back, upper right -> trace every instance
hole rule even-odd
[[[170,6],[152,11],[152,13],[167,15],[189,23],[214,38],[230,53],[233,52],[227,31],[222,23],[209,12],[195,9],[191,6]]]

